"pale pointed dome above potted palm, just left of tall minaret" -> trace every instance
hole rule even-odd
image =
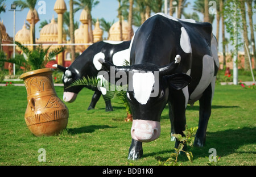
[[[38,41],[57,41],[58,40],[58,24],[52,17],[51,23],[44,26],[40,31]]]

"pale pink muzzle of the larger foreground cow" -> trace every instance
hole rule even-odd
[[[150,142],[160,136],[160,122],[152,120],[133,120],[131,138],[141,142]]]

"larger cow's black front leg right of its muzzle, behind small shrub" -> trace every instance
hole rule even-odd
[[[185,109],[187,106],[186,96],[184,95],[183,90],[173,90],[170,88],[169,93],[169,102],[171,103],[171,110],[173,115],[172,124],[174,126],[174,131],[177,134],[181,134],[184,136],[183,131],[185,130],[186,125],[186,117],[185,117]],[[171,117],[170,117],[171,118]],[[179,141],[175,142],[175,147],[179,146]]]

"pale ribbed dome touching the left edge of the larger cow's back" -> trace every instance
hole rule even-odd
[[[122,32],[123,32],[123,40],[130,40],[128,39],[128,31],[129,31],[129,23],[122,20]],[[133,35],[133,32],[132,32]],[[119,41],[120,40],[120,26],[119,21],[115,22],[112,27],[109,29],[109,39],[113,41]]]

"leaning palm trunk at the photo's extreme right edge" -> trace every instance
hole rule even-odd
[[[253,29],[253,2],[252,1],[246,1],[247,7],[248,7],[248,16],[249,16],[249,22],[250,22],[250,30],[251,30],[251,42],[254,43],[254,45],[251,45],[253,48],[253,58],[254,58],[254,70],[256,70],[256,50],[255,50],[255,38],[254,38],[254,29]]]

